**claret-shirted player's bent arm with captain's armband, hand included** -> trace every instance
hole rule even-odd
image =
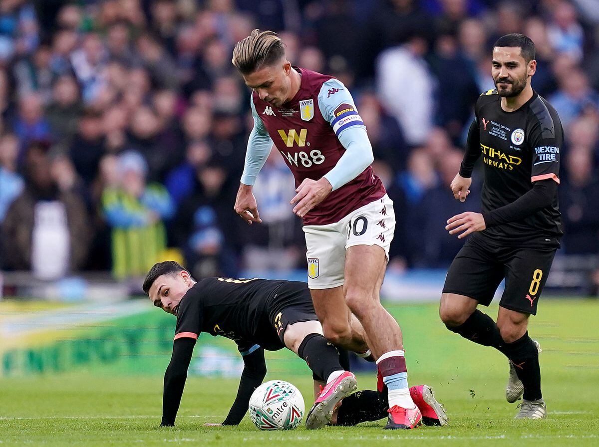
[[[304,217],[332,191],[358,177],[374,160],[364,122],[343,83],[331,79],[322,84],[318,106],[345,148],[345,153],[320,180],[306,179],[299,185],[297,195],[291,200],[292,205],[297,203],[294,212],[299,217]]]

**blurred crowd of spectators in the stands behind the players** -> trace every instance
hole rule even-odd
[[[444,222],[492,44],[536,44],[533,87],[565,129],[565,254],[599,253],[599,8],[595,0],[2,0],[0,267],[56,278],[305,266],[294,181],[274,151],[255,186],[264,224],[233,204],[252,126],[232,47],[280,33],[294,65],[349,87],[395,201],[390,268],[445,267]],[[174,251],[173,251],[174,249]],[[167,251],[171,250],[171,251]]]

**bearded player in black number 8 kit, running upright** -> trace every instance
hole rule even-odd
[[[451,188],[464,202],[474,163],[482,156],[482,214],[464,212],[447,221],[458,238],[470,236],[447,272],[440,317],[447,329],[509,359],[506,399],[523,402],[516,418],[545,418],[540,346],[528,336],[562,224],[558,210],[559,154],[563,132],[558,114],[531,87],[534,43],[522,34],[495,42],[492,76],[497,90],[476,102],[466,153]],[[497,323],[477,310],[488,306],[503,279]]]

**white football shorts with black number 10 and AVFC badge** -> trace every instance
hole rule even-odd
[[[394,230],[393,200],[387,194],[336,223],[305,225],[308,287],[325,289],[343,285],[345,253],[354,245],[379,245],[389,260]]]

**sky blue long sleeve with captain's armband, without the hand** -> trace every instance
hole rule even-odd
[[[370,166],[373,148],[352,95],[341,81],[331,79],[322,84],[318,105],[346,150],[337,165],[324,175],[335,191]]]

